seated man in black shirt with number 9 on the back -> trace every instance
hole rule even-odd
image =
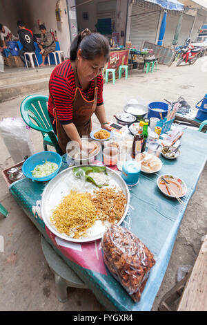
[[[25,62],[24,53],[25,52],[35,52],[34,41],[37,41],[36,37],[33,35],[32,30],[26,28],[26,24],[23,21],[17,21],[17,26],[19,28],[17,34],[19,35],[19,41],[23,48],[19,50],[19,56],[21,60]],[[28,66],[31,66],[30,61],[28,61]]]

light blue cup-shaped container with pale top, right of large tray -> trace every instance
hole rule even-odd
[[[139,183],[141,163],[136,160],[128,160],[122,166],[121,177],[127,185],[135,186]]]

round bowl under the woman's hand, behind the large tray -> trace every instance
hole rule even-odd
[[[81,141],[82,142],[84,142],[84,141],[93,142],[97,145],[97,149],[95,149],[95,151],[92,151],[91,154],[89,153],[89,155],[86,155],[85,153],[83,153],[81,155],[78,147],[75,147],[73,145],[73,146],[71,146],[71,149],[70,149],[70,146],[67,145],[66,153],[69,158],[68,160],[70,160],[70,161],[72,160],[76,166],[90,165],[90,164],[94,163],[95,160],[97,160],[97,155],[101,151],[101,143],[99,143],[95,140],[92,140],[90,138],[84,138],[84,139],[81,139]],[[68,144],[70,144],[70,142]],[[72,164],[70,164],[70,165],[72,165]]]

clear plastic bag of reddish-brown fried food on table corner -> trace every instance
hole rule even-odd
[[[111,225],[106,230],[101,246],[108,270],[133,301],[139,301],[148,273],[155,265],[153,254],[135,234],[119,225]]]

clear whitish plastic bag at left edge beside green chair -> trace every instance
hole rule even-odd
[[[0,121],[0,133],[15,164],[34,154],[30,127],[22,118],[3,118]]]

